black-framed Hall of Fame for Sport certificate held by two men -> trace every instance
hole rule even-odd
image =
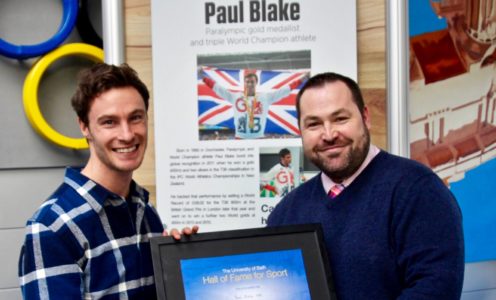
[[[320,224],[151,239],[166,300],[335,299]]]

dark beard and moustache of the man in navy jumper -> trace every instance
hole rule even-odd
[[[319,150],[322,147],[317,146],[311,149],[309,155],[310,161],[334,182],[342,182],[360,168],[369,152],[370,133],[366,126],[363,128],[364,132],[357,138],[358,143],[356,146],[353,146],[353,140],[349,138],[338,138],[334,141],[327,142],[325,146],[347,146],[344,153],[340,153],[336,156],[325,156]]]

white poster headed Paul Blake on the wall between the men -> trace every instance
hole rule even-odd
[[[316,174],[301,151],[301,82],[324,71],[356,79],[356,43],[355,1],[152,1],[157,209],[166,226],[264,226],[285,193],[265,187],[277,179],[287,191]],[[283,149],[291,163],[270,179]]]

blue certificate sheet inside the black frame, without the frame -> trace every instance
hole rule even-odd
[[[310,300],[300,249],[181,260],[186,300]]]

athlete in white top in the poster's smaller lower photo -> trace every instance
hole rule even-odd
[[[291,152],[287,148],[279,151],[279,163],[263,176],[263,189],[278,197],[286,196],[294,189],[294,174],[291,169]]]

